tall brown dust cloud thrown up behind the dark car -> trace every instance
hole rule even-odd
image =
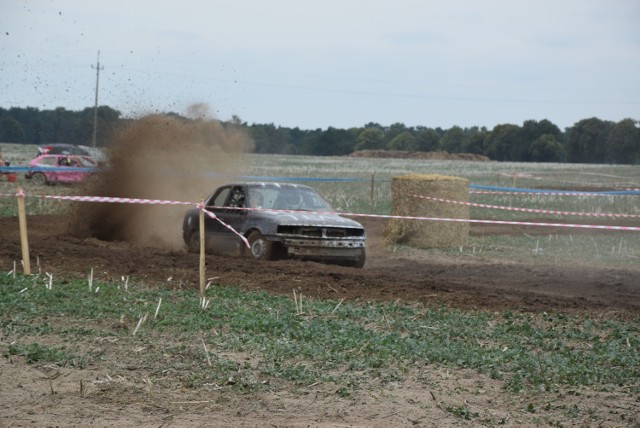
[[[250,138],[193,105],[187,118],[151,115],[124,126],[109,147],[109,166],[87,183],[95,196],[199,202],[237,173]],[[78,206],[74,232],[104,241],[177,250],[188,205],[89,203]]]

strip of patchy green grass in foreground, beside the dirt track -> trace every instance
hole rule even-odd
[[[640,319],[313,299],[298,314],[292,298],[233,287],[207,290],[210,304],[202,309],[192,291],[103,283],[90,292],[83,281],[54,281],[47,290],[42,278],[0,278],[0,353],[30,363],[104,360],[110,370],[146,367],[157,378],[171,370],[187,388],[240,392],[279,380],[322,382],[341,396],[434,365],[476,370],[512,393],[589,387],[640,394]],[[97,338],[117,341],[121,355],[95,349]],[[464,410],[450,411],[472,416]]]

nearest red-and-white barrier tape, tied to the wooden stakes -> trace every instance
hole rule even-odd
[[[16,196],[16,195],[11,195]],[[233,231],[236,235],[238,235],[245,245],[249,246],[248,241],[244,236],[239,234],[235,229],[226,223],[222,222],[216,215],[206,209],[203,204],[195,204],[193,202],[181,202],[181,201],[167,201],[167,200],[158,200],[158,199],[132,199],[132,198],[113,198],[113,197],[101,197],[101,196],[51,196],[51,195],[30,195],[38,198],[47,198],[47,199],[62,199],[62,200],[72,200],[72,201],[80,201],[80,202],[116,202],[116,203],[139,203],[139,204],[153,204],[153,205],[161,205],[161,204],[170,204],[170,205],[193,205],[198,207],[198,209],[204,210],[204,212],[211,218],[216,219],[229,230]],[[225,207],[230,208],[230,207]],[[398,219],[398,220],[426,220],[426,221],[446,221],[446,222],[455,222],[455,223],[480,223],[480,224],[503,224],[503,225],[515,225],[515,226],[546,226],[546,227],[567,227],[574,229],[600,229],[600,230],[624,230],[624,231],[634,231],[640,232],[640,227],[634,226],[607,226],[607,225],[595,225],[595,224],[567,224],[567,223],[537,223],[537,222],[526,222],[526,221],[504,221],[504,220],[475,220],[475,219],[464,219],[464,218],[439,218],[439,217],[421,217],[421,216],[400,216],[400,215],[384,215],[384,214],[361,214],[361,213],[346,213],[346,212],[322,212],[322,211],[298,211],[298,210],[275,210],[275,209],[264,209],[264,208],[235,208],[239,210],[254,210],[254,211],[269,211],[269,212],[285,212],[285,213],[295,213],[298,215],[304,214],[337,214],[347,217],[368,217],[368,218],[382,218],[382,219]]]

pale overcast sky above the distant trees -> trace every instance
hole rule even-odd
[[[0,107],[302,129],[640,119],[638,0],[0,0]],[[93,68],[92,68],[93,67]]]

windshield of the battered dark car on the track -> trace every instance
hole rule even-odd
[[[318,192],[308,187],[252,187],[249,205],[276,210],[333,211]]]

